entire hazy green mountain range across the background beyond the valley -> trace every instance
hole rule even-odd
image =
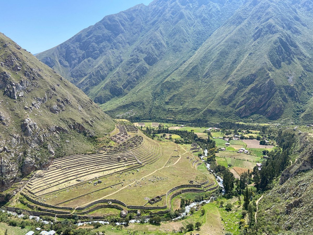
[[[112,117],[310,122],[311,0],[155,0],[37,58]]]

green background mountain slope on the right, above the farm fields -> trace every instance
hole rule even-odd
[[[310,1],[247,1],[162,83],[147,81],[103,107],[112,115],[128,109],[126,116],[140,117],[142,112],[133,105],[140,97],[148,117],[259,114],[299,120],[312,93],[310,6]]]

